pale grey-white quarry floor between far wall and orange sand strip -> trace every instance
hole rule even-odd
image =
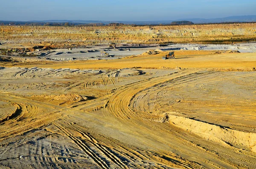
[[[2,47],[10,48],[9,45],[3,45]],[[120,44],[116,49],[108,48],[108,46],[91,46],[84,49],[55,49],[49,51],[34,52],[36,55],[40,55],[38,58],[48,60],[111,60],[120,59],[127,56],[139,55],[148,50],[160,50],[160,51],[180,51],[180,50],[194,50],[194,51],[209,51],[209,50],[233,50],[241,53],[253,53],[256,52],[256,42],[251,43],[237,43],[233,45],[224,44],[169,44],[166,46],[151,46],[142,48],[140,46],[122,46]],[[109,55],[106,56],[106,52]]]

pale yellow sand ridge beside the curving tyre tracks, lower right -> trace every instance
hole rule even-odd
[[[204,139],[224,145],[243,146],[256,152],[256,133],[241,132],[186,117],[165,114],[161,121],[166,122],[167,120]]]

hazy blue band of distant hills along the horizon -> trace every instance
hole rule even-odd
[[[38,23],[38,25],[45,25],[44,23],[50,23],[48,25],[64,25],[64,23],[70,23],[70,25],[80,25],[80,24],[96,24],[108,25],[110,23],[123,23],[126,25],[172,25],[174,23],[187,21],[195,24],[200,23],[228,23],[228,22],[256,22],[256,15],[244,15],[244,16],[231,16],[231,17],[221,17],[221,18],[186,18],[179,20],[156,20],[156,21],[104,21],[104,20],[31,20],[31,21],[0,21],[0,24],[8,25],[12,23],[14,25],[33,25],[33,23]],[[58,23],[58,24],[54,24]],[[11,24],[11,25],[12,25]]]

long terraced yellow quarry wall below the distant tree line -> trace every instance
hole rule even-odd
[[[256,23],[186,26],[0,26],[0,43],[236,43],[256,40]]]

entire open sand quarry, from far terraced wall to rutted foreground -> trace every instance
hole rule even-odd
[[[255,27],[0,27],[0,168],[255,169]]]

